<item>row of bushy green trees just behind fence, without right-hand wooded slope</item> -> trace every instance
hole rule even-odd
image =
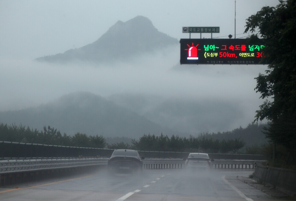
[[[76,133],[74,136],[61,135],[53,127],[44,127],[43,131],[33,130],[24,126],[7,126],[0,124],[0,141],[23,142],[48,145],[63,145],[75,147],[105,148],[103,136],[88,136]],[[170,138],[161,133],[160,136],[143,135],[139,140],[132,139],[132,145],[125,142],[107,145],[109,149],[137,149],[143,151],[173,151],[173,152],[207,152],[207,153],[237,153],[245,146],[240,139],[219,140],[204,135],[202,138],[189,138],[172,135]]]

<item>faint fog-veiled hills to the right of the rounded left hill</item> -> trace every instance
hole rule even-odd
[[[107,99],[173,131],[187,134],[223,131],[229,121],[243,119],[242,108],[232,102],[218,99],[164,99],[161,96],[140,94],[117,94]]]

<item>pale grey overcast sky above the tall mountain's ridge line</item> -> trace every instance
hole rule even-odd
[[[277,0],[236,0],[237,38],[243,36],[239,34],[249,16],[277,4]],[[213,37],[228,36],[234,35],[235,0],[0,0],[0,54],[34,59],[63,53],[96,41],[118,20],[138,15],[177,39],[189,38],[182,34],[186,26],[217,26],[220,33]]]

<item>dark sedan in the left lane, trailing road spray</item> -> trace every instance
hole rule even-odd
[[[132,149],[115,149],[108,160],[109,173],[128,173],[143,170],[144,157]]]

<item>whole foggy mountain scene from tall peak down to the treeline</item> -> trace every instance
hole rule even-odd
[[[266,66],[180,65],[179,42],[137,16],[63,54],[3,59],[0,123],[140,137],[231,131],[262,103]]]

